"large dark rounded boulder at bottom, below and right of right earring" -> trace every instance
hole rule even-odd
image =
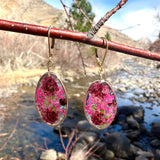
[[[130,141],[122,133],[115,132],[106,136],[107,148],[117,157],[127,158],[130,152]]]

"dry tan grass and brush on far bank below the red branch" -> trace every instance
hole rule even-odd
[[[92,47],[93,48],[93,47]],[[87,72],[92,72],[95,63],[93,50],[81,44],[81,50]],[[103,54],[103,51],[102,51]],[[116,58],[115,58],[116,57]],[[112,59],[112,60],[111,60]],[[119,56],[107,55],[105,66],[117,65]],[[116,62],[115,62],[116,60]],[[73,76],[77,70],[83,72],[82,61],[74,42],[56,40],[53,54],[53,70],[61,77]],[[0,31],[0,87],[37,82],[40,75],[47,71],[48,39],[25,34]],[[111,69],[111,68],[110,68]],[[7,82],[7,83],[6,83]]]

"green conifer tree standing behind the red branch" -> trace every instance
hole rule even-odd
[[[92,6],[87,0],[77,0],[79,7],[86,13],[90,20],[94,20],[95,14],[92,12]],[[91,29],[91,24],[87,21],[84,15],[77,8],[75,3],[69,10],[70,16],[73,18],[75,30],[79,32],[87,32]]]

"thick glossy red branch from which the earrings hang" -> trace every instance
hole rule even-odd
[[[3,19],[0,19],[0,30],[48,37],[48,27],[7,21]],[[106,48],[107,46],[107,42],[105,40],[102,40],[101,38],[89,39],[86,37],[86,33],[82,32],[73,32],[68,30],[52,28],[50,36],[57,39],[82,42],[101,48]],[[160,61],[160,53],[134,48],[112,41],[108,41],[108,48],[110,50],[122,52],[125,54]]]

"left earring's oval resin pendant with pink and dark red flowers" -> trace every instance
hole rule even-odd
[[[67,94],[60,79],[54,73],[45,73],[39,80],[35,104],[42,120],[49,126],[61,124],[68,109]]]

